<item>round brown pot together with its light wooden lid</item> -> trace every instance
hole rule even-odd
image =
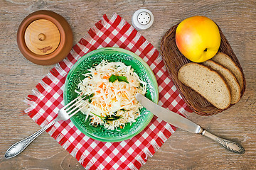
[[[36,11],[21,22],[18,47],[26,59],[50,65],[63,60],[73,47],[73,33],[68,22],[53,11]]]

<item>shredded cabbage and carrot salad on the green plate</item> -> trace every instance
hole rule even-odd
[[[90,125],[103,125],[108,130],[134,123],[142,108],[135,96],[146,94],[146,83],[139,79],[134,69],[122,62],[103,60],[88,71],[76,91],[86,98],[81,110],[86,115],[85,120],[90,118]],[[121,78],[110,81],[110,77],[126,81]]]

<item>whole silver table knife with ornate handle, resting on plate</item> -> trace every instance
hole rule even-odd
[[[245,149],[242,147],[242,145],[239,145],[238,143],[233,142],[231,140],[225,140],[221,137],[211,134],[210,132],[201,128],[199,125],[196,125],[196,123],[193,123],[191,120],[183,118],[181,115],[178,115],[177,113],[174,113],[166,108],[157,105],[156,103],[150,101],[142,94],[137,94],[136,98],[137,101],[139,101],[139,103],[141,103],[142,106],[144,106],[144,108],[149,110],[151,113],[156,115],[161,120],[164,120],[167,123],[176,126],[177,128],[181,128],[182,130],[198,133],[203,136],[209,137],[211,140],[218,142],[220,145],[225,147],[225,149],[228,149],[231,152],[235,152],[237,154],[245,153]]]

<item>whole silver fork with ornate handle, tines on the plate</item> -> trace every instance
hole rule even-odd
[[[15,157],[16,155],[20,154],[23,151],[23,149],[28,147],[28,145],[33,140],[35,140],[36,137],[41,135],[42,132],[44,132],[45,130],[50,128],[51,125],[53,125],[56,122],[58,122],[58,120],[64,120],[64,121],[68,120],[73,115],[75,115],[75,113],[78,113],[78,111],[80,111],[83,107],[85,107],[85,106],[82,106],[83,103],[81,102],[83,98],[85,98],[85,96],[84,97],[78,96],[73,101],[68,103],[68,105],[66,105],[63,108],[61,108],[58,111],[58,116],[57,116],[57,118],[55,118],[55,120],[51,121],[48,125],[44,126],[43,128],[41,128],[41,130],[38,130],[34,134],[26,137],[25,139],[23,139],[23,140],[21,140],[19,142],[16,142],[9,149],[7,149],[6,154],[4,154],[4,157],[5,158]]]

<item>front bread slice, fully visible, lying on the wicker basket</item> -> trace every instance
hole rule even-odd
[[[202,64],[190,62],[178,70],[178,79],[201,94],[213,106],[225,109],[231,101],[230,90],[220,74]]]

